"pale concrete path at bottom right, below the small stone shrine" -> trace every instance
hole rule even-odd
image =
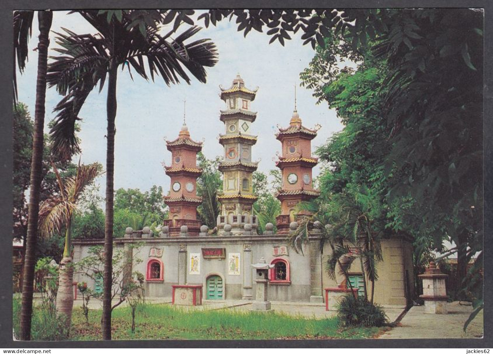
[[[400,325],[383,334],[382,339],[413,338],[481,338],[483,336],[483,311],[469,324],[464,322],[472,312],[472,306],[447,304],[447,315],[425,314],[424,306],[413,306],[401,319]]]

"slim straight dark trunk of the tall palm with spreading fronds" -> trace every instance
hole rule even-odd
[[[106,100],[106,215],[105,215],[105,272],[103,276],[103,339],[111,340],[111,276],[113,258],[113,175],[115,163],[115,117],[116,117],[116,75],[115,58],[109,62],[108,96]]]

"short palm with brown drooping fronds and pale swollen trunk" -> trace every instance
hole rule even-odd
[[[38,225],[41,237],[49,237],[65,229],[65,248],[60,261],[56,309],[57,316],[61,315],[66,327],[70,328],[73,307],[72,215],[84,188],[98,176],[101,165],[80,165],[79,160],[75,176],[65,181],[60,177],[55,164],[52,163],[52,166],[60,186],[60,195],[52,196],[41,203]]]

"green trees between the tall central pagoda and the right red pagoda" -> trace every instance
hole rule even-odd
[[[272,177],[272,182],[269,182],[269,178],[263,172],[254,172],[252,178],[253,194],[258,197],[253,203],[253,212],[258,217],[259,234],[264,232],[268,222],[274,224],[274,231],[277,231],[276,216],[281,213],[281,202],[274,195],[281,187],[280,171],[271,170],[269,176]]]

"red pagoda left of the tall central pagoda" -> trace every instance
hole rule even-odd
[[[170,207],[170,219],[164,220],[163,226],[170,228],[171,237],[179,236],[183,225],[188,227],[188,236],[198,236],[201,222],[197,220],[197,207],[202,198],[197,196],[196,187],[202,170],[197,167],[197,153],[202,150],[202,142],[190,139],[183,121],[178,138],[166,141],[166,147],[172,154],[171,166],[165,166],[166,174],[171,177],[171,190],[164,197]]]

